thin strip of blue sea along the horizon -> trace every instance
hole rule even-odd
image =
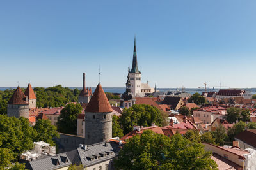
[[[15,89],[16,87],[0,87],[1,91],[4,91],[6,89]],[[26,88],[26,87],[23,87]],[[82,87],[68,87],[70,89],[82,89]],[[241,89],[241,88],[236,88],[236,89]],[[256,88],[243,88],[244,90],[248,90],[250,91],[252,94],[256,94]],[[95,87],[92,87],[92,92],[94,92]],[[125,92],[125,87],[103,87],[103,90],[105,92],[110,92],[110,93],[118,93],[118,94],[122,94],[123,92]],[[177,88],[157,88],[157,90],[159,90],[160,92],[167,92],[167,91],[182,91],[182,89],[177,89]],[[214,92],[218,92],[219,89],[207,89],[207,92],[209,91],[214,91]],[[184,89],[185,92],[188,92],[190,94],[194,94],[194,93],[200,93],[202,94],[202,92],[204,92],[204,89],[198,89],[198,88],[186,88]]]

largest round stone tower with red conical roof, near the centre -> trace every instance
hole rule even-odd
[[[85,144],[112,138],[112,108],[100,83],[85,109]]]

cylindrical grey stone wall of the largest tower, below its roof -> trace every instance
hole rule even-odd
[[[112,112],[85,113],[85,144],[91,145],[112,138]]]

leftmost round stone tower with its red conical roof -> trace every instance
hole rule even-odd
[[[18,86],[12,97],[8,101],[7,115],[8,117],[25,117],[28,118],[29,102],[28,97],[22,92]]]

